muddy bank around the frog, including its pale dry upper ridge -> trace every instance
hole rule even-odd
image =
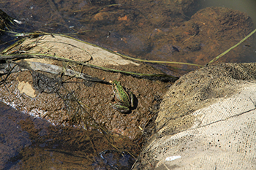
[[[67,40],[68,44],[65,42]],[[55,46],[48,42],[55,43]],[[73,47],[72,50],[69,47]],[[128,61],[99,47],[62,36],[26,39],[7,53],[16,53],[17,50],[26,50],[27,55],[38,53],[75,58],[76,61],[88,61],[88,64],[105,66],[108,69],[161,74],[146,64]],[[1,84],[1,101],[30,115],[43,117],[56,125],[96,123],[132,140],[140,139],[143,134],[140,128],[143,129],[152,116],[150,108],[158,104],[157,101],[168,85],[157,80],[138,79],[118,72],[105,72],[89,66],[50,59],[23,59],[15,61],[17,65],[11,64],[10,67],[6,64],[3,63],[2,68],[5,66],[5,70],[10,70],[13,66],[16,72]],[[73,73],[70,75],[69,72]],[[134,94],[137,102],[130,114],[121,114],[110,106],[115,102],[110,80],[121,81]]]

